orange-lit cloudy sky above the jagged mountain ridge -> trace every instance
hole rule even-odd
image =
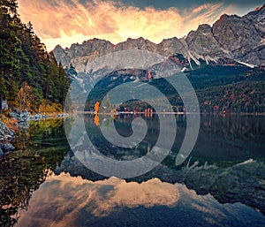
[[[114,44],[143,37],[159,43],[181,38],[223,13],[242,16],[263,0],[19,0],[19,15],[31,21],[48,50],[99,38]]]

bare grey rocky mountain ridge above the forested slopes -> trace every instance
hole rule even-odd
[[[109,41],[93,39],[70,48],[61,46],[53,50],[57,62],[63,66],[74,65],[77,72],[85,72],[86,65],[97,57],[118,50],[142,49],[163,55],[181,58],[181,67],[193,63],[245,64],[249,67],[265,65],[265,4],[243,17],[227,15],[218,19],[213,26],[200,25],[185,37],[164,39],[155,44],[142,37],[128,38],[125,42],[112,44]],[[185,58],[185,61],[183,61]]]

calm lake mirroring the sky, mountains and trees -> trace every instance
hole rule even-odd
[[[131,136],[135,117],[145,119],[148,130],[134,148],[114,146],[102,135],[100,126],[114,121],[121,136]],[[169,154],[155,169],[126,179],[87,168],[65,137],[71,118],[30,122],[17,149],[0,161],[0,225],[265,226],[265,117],[201,116],[198,140],[179,165],[186,116],[170,117],[177,133]],[[110,159],[148,155],[159,138],[155,115],[84,118],[89,139]]]

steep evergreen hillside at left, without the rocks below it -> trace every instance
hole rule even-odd
[[[0,0],[0,101],[34,112],[43,102],[64,105],[69,86],[63,66],[33,25],[19,19],[17,1]]]

